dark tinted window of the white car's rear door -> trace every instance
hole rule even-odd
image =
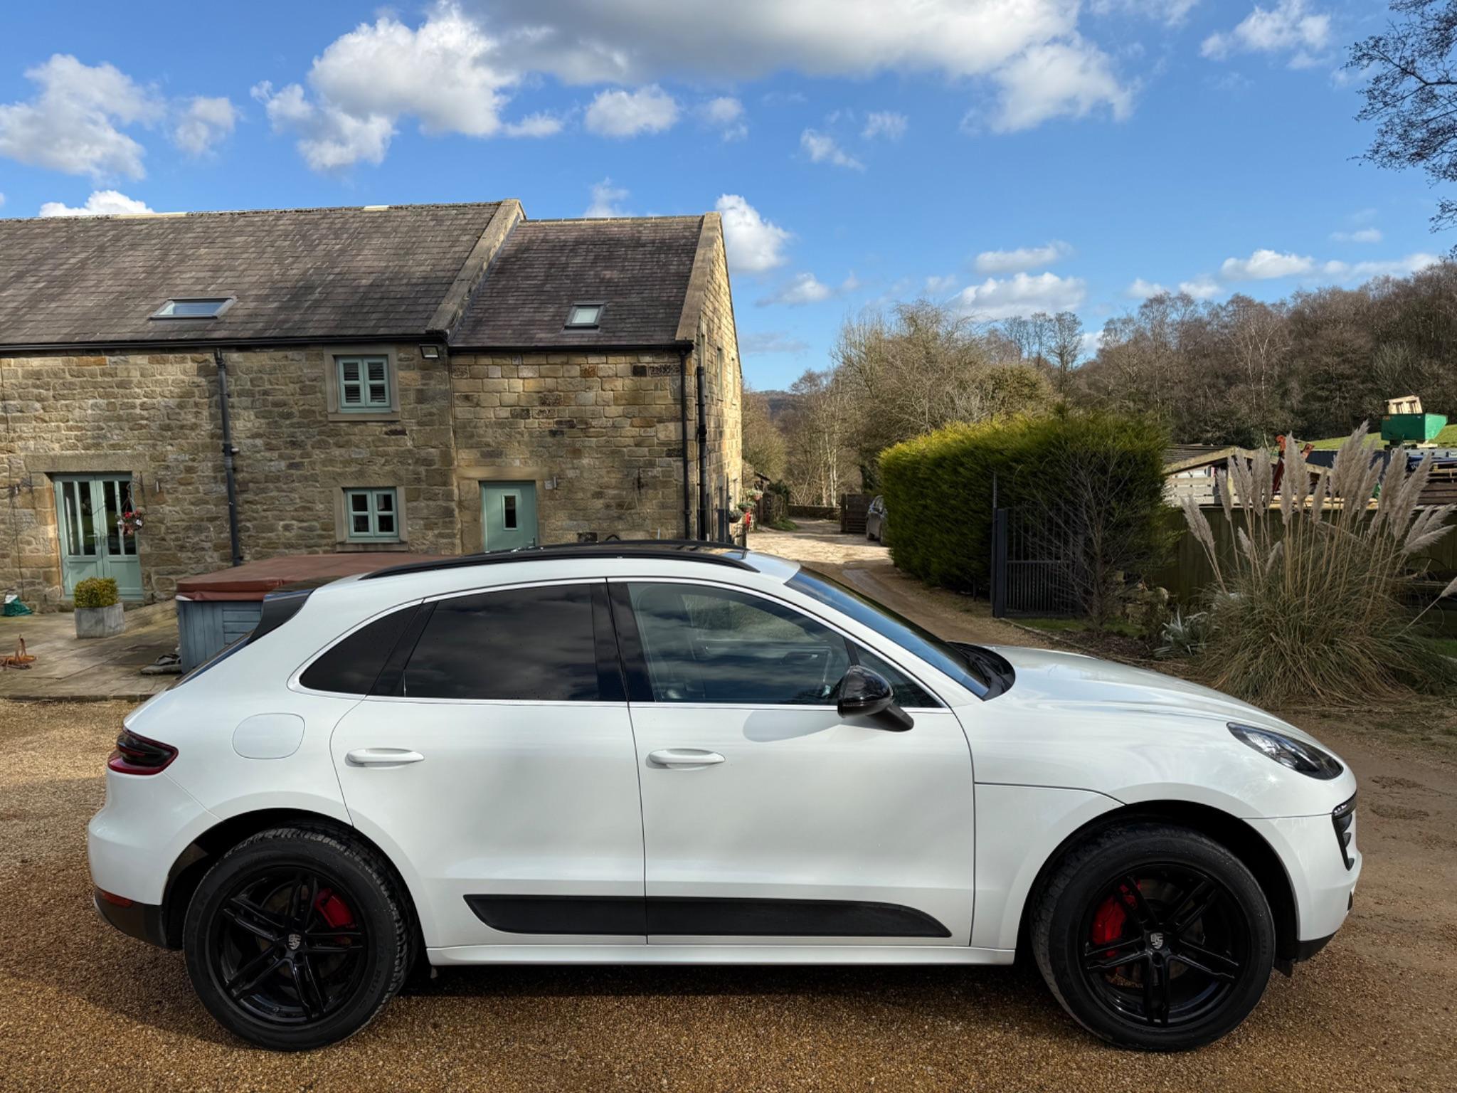
[[[600,595],[605,603],[605,587]],[[440,600],[405,666],[402,694],[567,702],[619,698],[603,695],[597,679],[593,600],[589,584]]]

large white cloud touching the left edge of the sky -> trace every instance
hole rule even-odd
[[[111,64],[55,54],[28,68],[34,99],[0,105],[0,156],[67,175],[144,178],[143,147],[121,125],[152,124],[165,106]]]

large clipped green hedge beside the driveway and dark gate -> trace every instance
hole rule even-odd
[[[1067,410],[906,440],[880,456],[890,555],[931,584],[985,595],[995,477],[1004,509],[1065,516],[1081,506],[1083,519],[1115,525],[1116,568],[1141,573],[1169,546],[1160,525],[1166,446],[1164,430],[1151,420]],[[1112,579],[1106,558],[1088,565],[1104,583]]]

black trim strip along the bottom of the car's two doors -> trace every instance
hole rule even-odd
[[[854,899],[692,896],[466,896],[476,917],[511,934],[660,937],[950,937],[931,915]]]

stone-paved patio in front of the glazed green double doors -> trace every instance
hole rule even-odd
[[[143,701],[166,691],[176,675],[144,676],[141,669],[178,646],[176,605],[150,603],[127,612],[127,630],[109,638],[76,637],[70,612],[0,616],[0,656],[23,637],[35,657],[28,669],[0,669],[0,698]]]

